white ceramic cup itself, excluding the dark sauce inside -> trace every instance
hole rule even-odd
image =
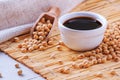
[[[91,30],[75,30],[63,25],[65,21],[75,17],[91,17],[98,20],[102,26]],[[107,20],[97,13],[81,11],[61,16],[58,20],[58,26],[62,41],[67,47],[77,51],[86,51],[96,48],[102,42]]]

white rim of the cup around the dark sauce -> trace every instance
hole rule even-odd
[[[95,29],[90,29],[90,30],[76,30],[76,29],[71,29],[71,28],[68,28],[68,27],[65,27],[63,25],[63,23],[65,22],[61,22],[61,19],[64,18],[65,16],[70,16],[70,15],[74,15],[74,14],[92,14],[92,15],[95,15],[95,16],[98,16],[99,18],[102,19],[102,21],[98,20],[101,24],[102,24],[102,27],[99,27],[99,28],[95,28]],[[85,17],[89,17],[89,16],[85,16]],[[74,17],[73,17],[74,18]],[[71,18],[70,18],[71,19]],[[66,20],[67,21],[67,20]],[[99,29],[104,29],[104,27],[106,28],[107,27],[107,20],[105,17],[103,17],[102,15],[98,14],[98,13],[95,13],[95,12],[91,12],[91,11],[79,11],[79,12],[71,12],[71,13],[67,13],[67,14],[64,14],[62,15],[59,19],[58,19],[58,24],[60,25],[59,27],[62,27],[64,29],[67,29],[67,30],[70,30],[70,31],[77,31],[77,32],[88,32],[88,31],[96,31],[96,30],[99,30]]]

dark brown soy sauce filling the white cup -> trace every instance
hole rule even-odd
[[[102,26],[102,24],[90,17],[76,17],[67,20],[64,26],[75,30],[91,30]]]

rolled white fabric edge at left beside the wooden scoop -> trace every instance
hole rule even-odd
[[[32,26],[33,26],[33,23],[0,31],[0,43],[7,41],[20,34],[29,32]]]

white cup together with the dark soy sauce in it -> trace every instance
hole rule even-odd
[[[76,51],[87,51],[102,42],[107,20],[94,12],[72,12],[59,18],[58,27],[61,39],[67,47]]]

